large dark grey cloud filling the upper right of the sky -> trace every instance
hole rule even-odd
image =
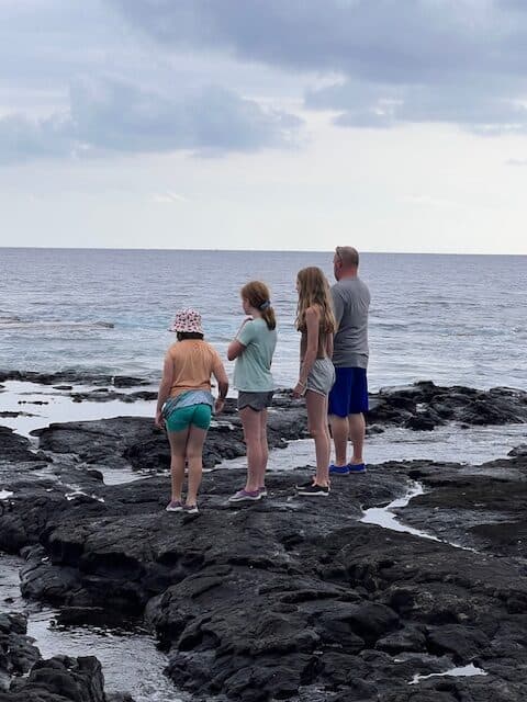
[[[168,48],[220,52],[287,71],[338,73],[310,91],[340,125],[445,122],[523,133],[524,0],[112,0]]]

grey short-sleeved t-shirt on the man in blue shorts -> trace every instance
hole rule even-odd
[[[359,278],[345,278],[332,287],[337,319],[333,363],[338,367],[368,367],[370,291]]]

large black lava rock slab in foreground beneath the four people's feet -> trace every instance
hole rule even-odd
[[[491,465],[492,473],[480,469],[481,485],[496,472]],[[522,464],[500,465],[522,484]],[[198,699],[373,702],[412,699],[410,691],[457,702],[484,690],[489,702],[505,700],[504,691],[519,702],[527,694],[518,672],[527,659],[523,558],[357,521],[361,503],[390,501],[408,474],[435,475],[440,494],[462,471],[392,463],[335,479],[324,505],[294,497],[305,473],[271,473],[269,498],[236,508],[227,497],[243,472],[216,471],[205,475],[198,516],[164,511],[165,477],[100,486],[104,502],[64,500],[61,511],[46,512],[41,545],[25,552],[22,587],[82,616],[91,607],[98,618],[104,609],[145,611],[169,676]],[[471,661],[490,672],[485,686],[430,678],[408,687],[416,673]]]

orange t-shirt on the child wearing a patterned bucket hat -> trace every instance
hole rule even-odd
[[[211,374],[223,371],[222,360],[215,349],[201,339],[184,339],[173,343],[167,351],[172,361],[173,380],[170,397],[186,390],[210,390]]]

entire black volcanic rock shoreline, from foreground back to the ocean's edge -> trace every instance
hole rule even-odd
[[[511,388],[419,383],[372,400],[370,432],[527,422],[527,393]],[[274,407],[273,448],[305,435],[301,404],[283,394]],[[155,473],[169,453],[152,419],[52,424],[38,439],[35,453],[0,429],[0,550],[24,557],[23,595],[70,621],[144,616],[167,675],[193,699],[526,697],[525,449],[482,466],[371,466],[335,478],[327,500],[295,497],[309,472],[291,466],[269,474],[267,500],[242,508],[227,497],[243,472],[217,468],[204,476],[202,511],[180,516],[164,510],[169,479]],[[229,404],[211,429],[205,465],[244,453]],[[103,473],[116,468],[154,475],[105,485]],[[360,521],[415,482],[424,494],[402,510],[404,521],[438,541]],[[482,675],[438,677],[469,664]],[[96,659],[42,661],[23,618],[0,618],[0,702],[104,699],[117,698],[104,697]]]

